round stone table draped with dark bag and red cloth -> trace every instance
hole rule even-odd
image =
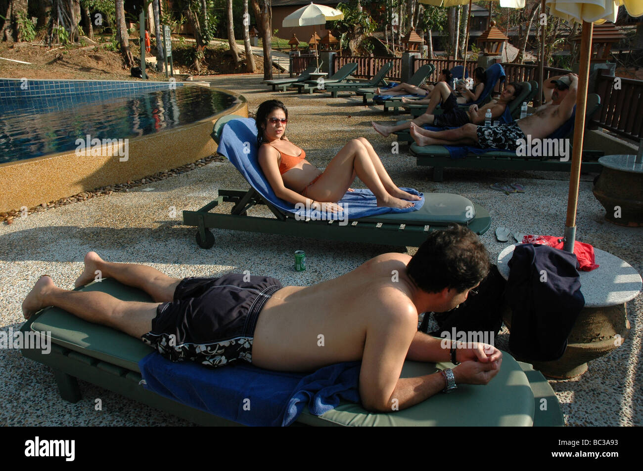
[[[508,262],[516,244],[498,255],[498,270],[507,280]],[[626,303],[641,290],[641,277],[628,262],[594,248],[596,264],[592,271],[579,271],[585,306],[567,338],[565,354],[556,361],[530,361],[534,368],[554,378],[572,378],[587,371],[587,362],[620,347],[629,330]],[[511,309],[503,308],[503,320],[511,331]]]

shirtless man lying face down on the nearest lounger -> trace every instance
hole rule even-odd
[[[101,270],[103,277],[146,291],[154,302],[67,291],[44,275],[25,298],[23,314],[29,318],[54,305],[140,338],[174,361],[210,366],[244,359],[267,370],[306,372],[361,360],[363,406],[391,411],[457,384],[487,384],[498,373],[502,353],[496,348],[457,344],[417,330],[419,313],[449,311],[464,302],[488,269],[484,245],[460,226],[431,232],[413,257],[378,255],[312,286],[235,274],[170,278],[149,266],[107,262],[89,252],[77,287]],[[461,363],[453,370],[400,378],[405,359]]]

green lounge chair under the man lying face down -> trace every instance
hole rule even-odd
[[[151,302],[139,289],[104,278],[78,291],[102,291],[125,301]],[[154,350],[118,330],[90,323],[57,307],[47,307],[21,327],[23,333],[51,332],[51,351],[23,348],[28,359],[51,368],[60,397],[68,402],[82,398],[78,379],[114,391],[161,411],[200,425],[239,425],[210,413],[146,390],[138,363]],[[430,374],[450,363],[406,361],[403,377]],[[235,368],[235,366],[222,366]],[[547,404],[543,411],[542,404]],[[484,404],[484,407],[480,407]],[[502,368],[486,386],[461,384],[451,394],[438,394],[403,411],[370,413],[359,404],[342,402],[321,416],[307,407],[294,425],[314,426],[561,426],[559,402],[543,375],[529,364],[503,353]]]

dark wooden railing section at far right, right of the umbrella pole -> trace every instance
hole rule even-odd
[[[643,81],[605,75],[599,69],[596,93],[601,96],[601,110],[592,124],[637,141],[643,138]]]

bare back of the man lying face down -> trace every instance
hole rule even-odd
[[[419,313],[405,273],[410,259],[386,253],[333,280],[280,289],[259,314],[252,363],[270,370],[306,371],[359,360],[367,330],[384,304],[411,313],[408,327],[417,329]]]

